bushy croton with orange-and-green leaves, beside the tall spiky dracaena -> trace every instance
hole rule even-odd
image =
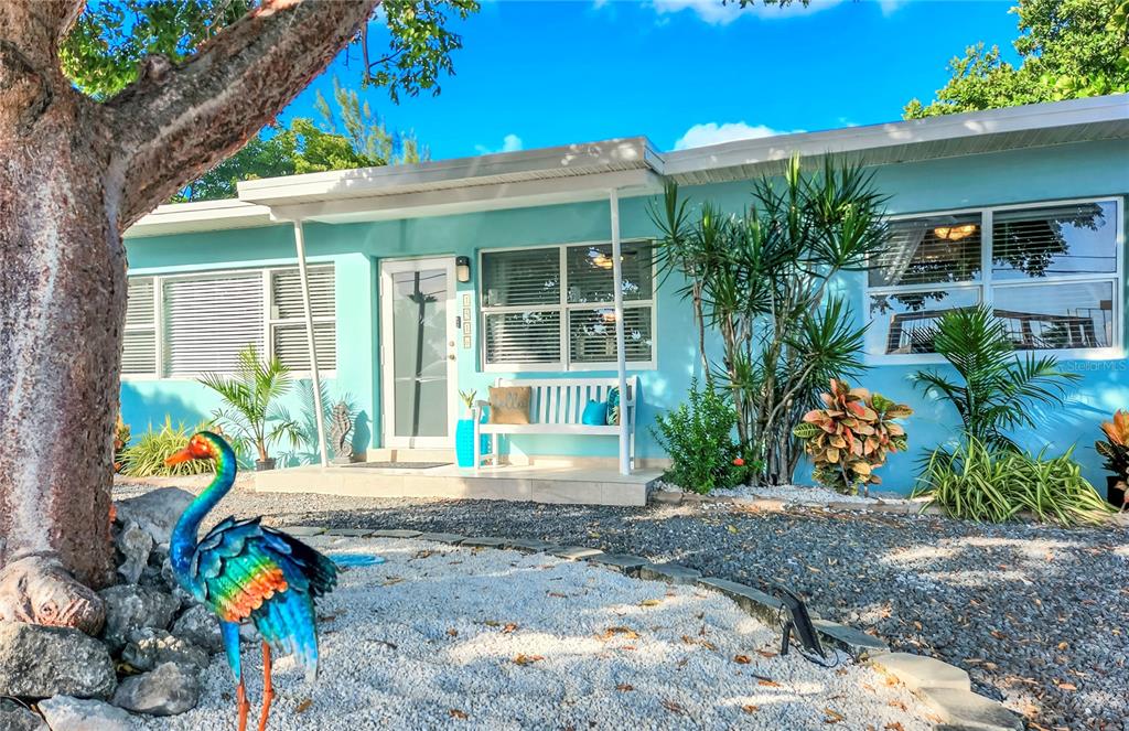
[[[870,485],[882,484],[874,470],[907,447],[905,429],[895,420],[913,410],[837,378],[820,399],[824,408],[805,414],[793,429],[815,464],[815,481],[844,495],[857,495],[859,488],[869,495]]]

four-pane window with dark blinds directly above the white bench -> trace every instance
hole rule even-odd
[[[624,242],[621,255],[628,364],[654,367],[653,249],[649,242]],[[611,244],[483,252],[479,293],[483,367],[615,367],[612,266]]]

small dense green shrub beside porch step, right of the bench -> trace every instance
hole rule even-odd
[[[689,401],[655,419],[650,433],[671,455],[664,480],[695,493],[733,487],[759,471],[733,441],[736,415],[725,399],[690,382]]]

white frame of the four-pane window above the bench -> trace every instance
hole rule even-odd
[[[479,367],[483,373],[567,373],[567,372],[584,372],[584,371],[614,371],[616,368],[615,360],[599,362],[599,363],[574,363],[572,362],[572,349],[569,342],[569,320],[568,314],[570,311],[583,311],[590,312],[593,310],[604,308],[602,304],[590,303],[590,302],[568,302],[568,250],[574,247],[583,246],[610,246],[611,241],[584,241],[584,242],[567,242],[562,244],[537,244],[534,246],[499,246],[493,249],[480,249],[478,255],[478,287],[475,287],[475,297],[478,298],[478,310],[479,310]],[[653,238],[625,238],[622,244],[646,244],[655,251],[655,241]],[[555,249],[560,256],[560,302],[557,304],[539,304],[539,305],[504,305],[484,307],[482,305],[482,285],[485,281],[485,268],[482,264],[482,259],[484,254],[499,253],[499,252],[513,252],[513,251],[536,251],[540,249]],[[650,307],[650,359],[649,360],[628,360],[627,367],[632,371],[654,371],[657,367],[658,362],[658,262],[654,255],[651,255],[650,261],[650,299],[625,299],[623,302],[624,312],[628,310],[634,310],[639,307]],[[614,305],[609,302],[606,308],[613,308]],[[561,358],[560,360],[554,360],[553,363],[487,363],[487,315],[497,314],[509,314],[509,313],[522,313],[522,312],[559,312],[560,313],[560,337],[561,337]]]

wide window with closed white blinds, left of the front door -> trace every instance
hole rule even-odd
[[[317,366],[336,368],[332,266],[308,269]],[[296,267],[131,277],[122,375],[193,378],[231,373],[248,345],[295,372],[309,371]]]

